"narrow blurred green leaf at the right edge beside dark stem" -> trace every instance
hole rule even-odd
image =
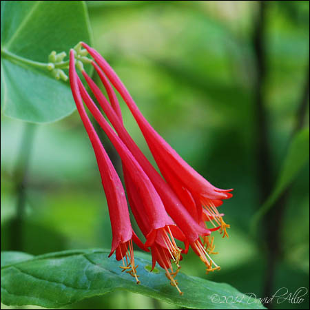
[[[252,222],[252,232],[256,229],[258,221],[276,203],[281,194],[289,187],[291,182],[298,176],[300,169],[309,161],[309,128],[300,130],[291,141],[287,156],[282,165],[276,186],[273,192],[260,207]]]

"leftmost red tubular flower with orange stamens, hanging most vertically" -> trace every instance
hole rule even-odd
[[[70,55],[70,84],[72,94],[85,130],[90,138],[92,147],[94,148],[94,154],[98,163],[103,188],[105,190],[105,196],[107,198],[107,205],[109,208],[113,236],[110,256],[114,253],[114,251],[116,251],[116,260],[123,260],[123,267],[121,268],[134,276],[137,283],[139,283],[138,276],[136,275],[136,268],[138,266],[134,264],[132,240],[134,240],[134,242],[136,242],[141,249],[146,249],[136,234],[134,234],[132,229],[127,200],[121,180],[118,177],[109,156],[107,156],[107,153],[105,152],[105,149],[101,144],[101,141],[96,134],[87,113],[85,112],[83,102],[81,101],[81,95],[79,94],[74,64],[71,65],[72,61],[74,63],[74,55]],[[126,265],[124,262],[124,257],[126,260]]]

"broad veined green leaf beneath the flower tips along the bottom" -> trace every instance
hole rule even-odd
[[[109,251],[102,249],[72,250],[17,262],[12,252],[3,252],[1,260],[6,260],[6,266],[1,268],[1,302],[63,307],[84,298],[125,289],[179,307],[265,309],[258,300],[230,285],[186,276],[181,272],[177,279],[184,295],[180,296],[176,288],[169,285],[165,271],[158,267],[150,272],[152,262],[149,256],[139,252],[135,253],[135,262],[141,284],[137,285],[132,276],[121,272],[121,263],[115,260],[115,256],[107,258],[108,254]]]

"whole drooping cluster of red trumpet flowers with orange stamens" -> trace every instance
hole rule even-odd
[[[85,57],[87,53],[93,60]],[[94,66],[105,87],[107,98],[83,69],[85,61]],[[81,70],[92,94],[114,128],[87,93],[76,68]],[[99,52],[85,43],[70,50],[69,76],[74,101],[94,148],[107,198],[112,226],[110,256],[116,252],[116,260],[123,262],[123,271],[134,276],[139,283],[138,266],[134,263],[134,242],[144,251],[151,251],[152,269],[157,262],[165,269],[171,285],[182,294],[176,275],[180,269],[180,260],[187,254],[189,247],[204,262],[207,273],[220,269],[211,258],[211,255],[216,254],[214,236],[211,234],[219,231],[223,238],[228,236],[229,225],[223,220],[224,214],[218,211],[218,207],[223,204],[223,200],[231,198],[232,189],[214,187],[176,153],[147,122],[121,79]],[[114,89],[132,112],[161,174],[149,163],[127,132]],[[144,243],[132,229],[125,190],[87,116],[84,104],[121,157],[127,198],[136,223],[145,236]],[[178,246],[176,240],[183,242],[184,247]]]

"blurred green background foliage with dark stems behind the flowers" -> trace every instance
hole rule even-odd
[[[182,271],[258,298],[282,287],[292,294],[309,289],[309,163],[260,222],[258,238],[249,234],[293,133],[309,127],[309,2],[87,1],[87,6],[94,48],[149,122],[212,184],[234,188],[234,198],[220,207],[231,224],[228,240],[216,238],[221,271],[205,275],[192,253]],[[151,158],[124,103],[122,110],[127,129]],[[1,180],[1,250],[110,248],[105,194],[77,112],[47,125],[1,116]],[[309,309],[309,293],[304,298],[272,307]],[[119,291],[70,309],[176,308]]]

